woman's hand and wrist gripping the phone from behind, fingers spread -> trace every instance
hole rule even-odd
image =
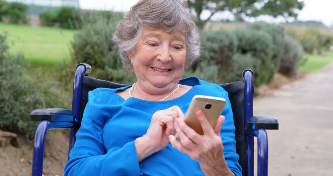
[[[187,126],[182,118],[178,118],[174,126],[181,142],[169,135],[170,143],[174,148],[198,161],[205,175],[234,175],[227,167],[223,156],[220,130],[225,117],[221,115],[213,128],[201,110],[196,112],[196,117],[204,135],[199,135]]]

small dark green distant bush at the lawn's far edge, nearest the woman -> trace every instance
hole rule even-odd
[[[61,28],[79,29],[81,25],[79,10],[74,7],[62,6],[56,12],[55,21]]]

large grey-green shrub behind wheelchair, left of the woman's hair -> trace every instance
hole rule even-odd
[[[91,75],[99,79],[132,84],[135,77],[122,67],[122,60],[112,41],[116,23],[99,21],[88,24],[73,36],[72,60],[85,62],[93,68]]]

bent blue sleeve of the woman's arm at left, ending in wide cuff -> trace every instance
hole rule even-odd
[[[70,160],[65,165],[65,176],[142,175],[134,141],[120,149],[106,151],[103,142],[104,125],[99,117],[103,112],[96,112],[100,109],[94,108],[97,106],[102,105],[95,105],[93,97],[87,103],[81,128],[70,152]]]

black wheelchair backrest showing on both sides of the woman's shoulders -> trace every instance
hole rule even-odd
[[[110,81],[91,78],[88,76],[83,77],[82,93],[81,93],[81,109],[80,109],[80,125],[83,111],[88,102],[88,92],[99,87],[104,88],[119,88],[127,86],[125,84],[113,83]],[[244,82],[232,82],[227,84],[220,84],[224,90],[229,94],[229,99],[232,107],[234,123],[236,127],[236,150],[239,155],[239,164],[242,167],[242,175],[244,175],[245,168],[245,143],[244,143]]]

